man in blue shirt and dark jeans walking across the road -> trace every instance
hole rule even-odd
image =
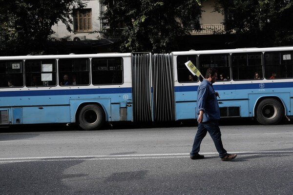
[[[194,137],[192,151],[190,153],[190,158],[193,160],[203,159],[205,157],[198,153],[200,150],[200,144],[203,138],[207,135],[207,132],[209,132],[221,160],[229,161],[237,156],[235,154],[228,154],[223,147],[218,122],[220,119],[220,108],[217,100],[219,94],[218,92],[215,92],[212,87],[212,83],[217,80],[217,76],[217,70],[215,68],[209,68],[205,79],[203,79],[197,90],[196,118],[198,121],[198,127]]]

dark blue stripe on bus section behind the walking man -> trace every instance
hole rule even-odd
[[[293,87],[293,82],[275,83],[243,83],[243,84],[219,84],[213,85],[215,90],[237,90],[237,89],[270,89]],[[175,92],[197,91],[198,86],[176,86]]]

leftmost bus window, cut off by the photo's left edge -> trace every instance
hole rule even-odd
[[[22,60],[0,60],[0,87],[9,87],[8,81],[13,87],[23,87]]]

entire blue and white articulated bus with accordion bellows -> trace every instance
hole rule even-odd
[[[15,56],[0,57],[0,127],[195,119],[202,78],[190,79],[189,60],[202,75],[217,69],[221,117],[273,125],[293,116],[293,47]]]

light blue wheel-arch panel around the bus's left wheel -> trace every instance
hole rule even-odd
[[[106,121],[110,121],[111,115],[111,99],[110,98],[92,98],[92,99],[70,99],[70,122],[75,122],[77,110],[81,108],[81,104],[100,104],[105,111]],[[117,111],[119,112],[119,110]]]

